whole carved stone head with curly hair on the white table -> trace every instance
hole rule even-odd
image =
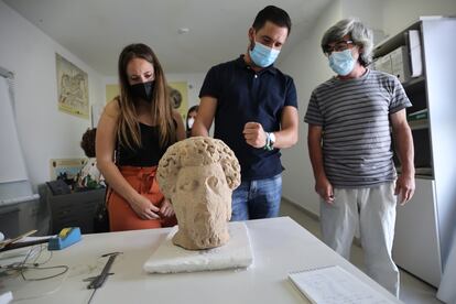
[[[228,145],[203,137],[180,141],[166,150],[156,176],[176,213],[174,245],[197,250],[229,240],[231,193],[240,184],[240,166]]]

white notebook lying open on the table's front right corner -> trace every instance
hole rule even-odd
[[[291,272],[289,278],[312,303],[393,303],[338,265]]]

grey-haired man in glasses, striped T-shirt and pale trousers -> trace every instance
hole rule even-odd
[[[305,122],[323,239],[349,259],[359,225],[368,274],[398,296],[399,271],[391,258],[395,205],[397,199],[405,204],[415,187],[405,115],[411,102],[397,77],[367,68],[372,34],[361,22],[339,21],[324,34],[322,48],[337,76],[312,93]],[[390,127],[402,164],[399,177]]]

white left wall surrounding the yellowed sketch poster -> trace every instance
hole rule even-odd
[[[50,180],[50,159],[82,158],[89,119],[58,111],[55,53],[88,74],[89,102],[104,102],[101,76],[0,1],[0,66],[14,73],[19,138],[34,186]]]

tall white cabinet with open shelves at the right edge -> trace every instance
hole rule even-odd
[[[413,33],[421,52],[416,40],[408,44]],[[456,18],[421,18],[380,43],[374,57],[388,57],[398,48],[415,56],[415,63],[420,53],[422,72],[403,82],[413,105],[406,112],[415,146],[416,193],[398,206],[393,258],[438,286],[456,232]]]

